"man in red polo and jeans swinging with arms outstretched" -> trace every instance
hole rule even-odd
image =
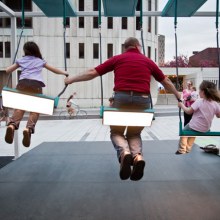
[[[180,94],[158,66],[141,53],[141,45],[134,37],[124,43],[125,52],[85,72],[67,77],[66,84],[88,81],[114,71],[114,103],[119,109],[143,110],[150,108],[151,76],[177,99]],[[144,175],[141,132],[144,127],[110,126],[110,137],[120,163],[120,178],[140,180]],[[125,134],[124,134],[125,133]],[[131,169],[133,166],[133,169]]]

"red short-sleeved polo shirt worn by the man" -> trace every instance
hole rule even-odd
[[[165,79],[159,67],[136,48],[111,57],[95,69],[100,76],[114,71],[114,91],[136,91],[149,94],[151,76],[158,82]]]

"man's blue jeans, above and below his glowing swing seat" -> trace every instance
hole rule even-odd
[[[150,108],[150,98],[140,95],[130,95],[125,93],[115,93],[113,107],[129,110],[143,110]],[[110,138],[117,151],[117,157],[123,152],[130,152],[133,157],[137,154],[142,155],[141,132],[144,127],[128,126],[110,126]]]

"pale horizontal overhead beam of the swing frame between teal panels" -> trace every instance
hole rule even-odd
[[[78,17],[95,17],[98,16],[98,12],[97,11],[78,11],[76,12]],[[143,12],[143,16],[145,17],[160,17],[162,14],[161,11],[144,11]],[[104,16],[104,13],[102,12],[101,14],[102,16]],[[6,12],[0,12],[0,17],[4,18],[4,17],[11,17],[11,16],[15,16],[15,17],[21,17],[22,16],[22,12],[14,12],[14,15],[8,15]],[[136,12],[135,16],[140,16],[140,12]],[[219,13],[220,16],[220,13]],[[33,12],[25,12],[25,17],[46,17],[46,15],[41,12],[41,11],[33,11]],[[191,17],[216,17],[216,12],[213,11],[198,11],[196,12],[193,16]],[[163,17],[166,18],[166,17]]]

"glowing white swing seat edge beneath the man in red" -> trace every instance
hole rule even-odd
[[[153,113],[104,111],[104,125],[151,126]]]

